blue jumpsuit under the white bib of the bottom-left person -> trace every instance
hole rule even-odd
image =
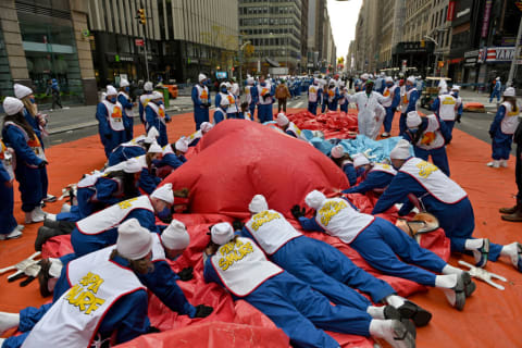
[[[114,262],[128,268],[128,261],[116,256]],[[53,302],[71,288],[66,272],[62,272],[54,287]],[[52,303],[47,303],[40,308],[27,307],[20,311],[18,331],[23,334],[5,339],[2,348],[22,347],[30,330],[47,313]],[[123,344],[132,340],[148,332],[150,322],[147,318],[148,295],[144,289],[127,294],[115,301],[105,313],[98,327],[98,333],[102,339],[115,338],[115,344]],[[114,334],[114,335],[113,335]]]

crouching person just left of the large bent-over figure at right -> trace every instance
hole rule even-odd
[[[360,175],[361,182],[357,186],[345,189],[343,194],[361,194],[373,191],[382,194],[394,179],[397,171],[386,163],[370,163],[364,154],[353,156],[353,167],[356,171],[363,170]]]

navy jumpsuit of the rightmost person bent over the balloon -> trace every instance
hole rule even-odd
[[[398,172],[373,208],[372,214],[383,213],[395,203],[405,201],[409,194],[422,197],[425,210],[438,219],[440,227],[451,243],[451,251],[463,252],[465,239],[473,238],[475,228],[473,208],[468,197],[453,204],[444,203],[432,196],[413,176]],[[399,215],[408,214],[412,208],[411,203],[406,203],[400,209]],[[488,259],[496,261],[501,248],[502,246],[492,243]]]

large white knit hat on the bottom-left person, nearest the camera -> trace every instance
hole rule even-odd
[[[125,259],[142,259],[152,250],[152,235],[137,219],[129,219],[117,227],[116,250]]]

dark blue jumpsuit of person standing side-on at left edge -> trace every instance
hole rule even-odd
[[[44,160],[39,159],[27,145],[24,133],[16,126],[8,125],[2,129],[2,138],[5,146],[16,152],[16,167],[14,176],[18,182],[18,190],[22,197],[22,210],[30,212],[40,207],[44,198],[41,171],[38,169]],[[30,141],[30,140],[29,140]]]

